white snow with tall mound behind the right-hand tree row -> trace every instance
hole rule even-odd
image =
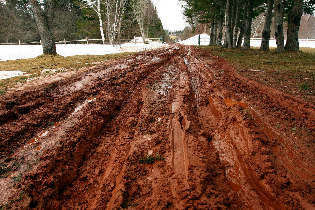
[[[210,38],[210,36],[208,34],[201,34],[200,35],[200,45],[209,45],[209,38]],[[186,40],[183,40],[179,43],[198,45],[198,39],[199,39],[199,34],[197,34],[193,37],[190,37]],[[285,43],[286,43],[286,40],[284,40],[284,44]],[[223,40],[222,40],[222,44],[223,44]],[[261,45],[261,40],[250,40],[250,46],[260,47],[260,45]],[[315,40],[308,40],[308,41],[299,40],[299,45],[300,45],[300,47],[303,47],[303,48],[315,48]],[[269,47],[277,47],[276,39],[270,39]]]

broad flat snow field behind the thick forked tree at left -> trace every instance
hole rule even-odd
[[[198,41],[197,41],[198,42]],[[57,54],[69,55],[104,55],[123,52],[140,52],[148,49],[156,49],[169,46],[158,42],[149,44],[126,43],[122,48],[114,48],[109,44],[57,44]],[[42,45],[0,45],[0,60],[17,60],[35,58],[43,54]]]

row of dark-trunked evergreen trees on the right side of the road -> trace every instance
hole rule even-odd
[[[239,48],[244,38],[243,49],[250,48],[250,37],[255,36],[253,20],[263,14],[264,27],[261,31],[261,50],[269,50],[271,28],[277,42],[277,53],[284,50],[299,50],[299,26],[302,14],[313,14],[315,0],[182,0],[186,3],[183,14],[193,28],[200,25],[210,28],[210,45]],[[273,18],[272,18],[273,17]],[[272,19],[273,24],[272,24]],[[284,24],[287,24],[287,40],[284,46]],[[272,26],[273,25],[273,26]],[[223,32],[223,28],[225,31]],[[255,33],[254,32],[254,33]],[[183,31],[185,35],[185,30]]]

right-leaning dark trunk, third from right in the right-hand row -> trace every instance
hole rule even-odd
[[[272,18],[272,9],[273,9],[273,0],[268,0],[267,3],[267,11],[266,11],[266,20],[264,31],[262,31],[262,40],[261,46],[259,50],[269,51],[269,40],[270,40],[270,26],[271,26],[271,18]]]

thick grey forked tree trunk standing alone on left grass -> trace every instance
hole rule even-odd
[[[43,43],[43,54],[55,55],[56,44],[54,38],[54,0],[47,0],[45,12],[37,0],[28,0],[33,10],[39,35]]]

